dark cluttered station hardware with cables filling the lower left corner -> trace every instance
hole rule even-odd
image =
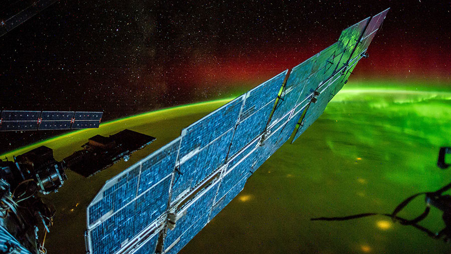
[[[36,254],[45,249],[38,242],[38,228],[49,231],[55,214],[55,208],[38,194],[57,192],[67,179],[64,168],[53,158],[52,149],[41,146],[14,161],[0,161],[0,177],[0,242],[8,245],[0,250]]]

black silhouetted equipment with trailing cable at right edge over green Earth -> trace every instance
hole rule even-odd
[[[443,161],[444,154],[447,153],[445,151],[445,147],[440,148],[440,151],[438,153],[438,162]],[[440,167],[440,164],[438,164],[438,167]],[[440,167],[442,168],[442,167]],[[443,168],[442,168],[443,169]],[[350,220],[350,219],[358,219],[362,217],[367,216],[373,216],[373,215],[383,215],[391,217],[394,221],[399,221],[401,225],[410,225],[413,226],[423,232],[425,232],[428,236],[434,238],[434,239],[443,239],[444,241],[448,242],[451,240],[451,195],[443,195],[443,192],[448,191],[451,189],[451,183],[441,187],[440,189],[433,191],[433,192],[419,192],[416,194],[413,194],[412,196],[404,199],[396,208],[393,210],[392,213],[360,213],[350,216],[343,216],[343,217],[319,217],[319,218],[312,218],[310,220],[326,220],[326,221],[342,221],[342,220]],[[420,215],[413,219],[405,219],[398,217],[397,214],[404,209],[413,199],[415,199],[418,196],[425,195],[425,203],[426,207]],[[427,217],[430,211],[430,205],[434,206],[435,208],[439,209],[443,212],[442,219],[445,224],[445,227],[441,229],[437,233],[433,233],[431,230],[418,225],[417,223],[422,221]]]

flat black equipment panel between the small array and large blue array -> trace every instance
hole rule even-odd
[[[88,139],[83,150],[66,157],[63,162],[70,170],[89,177],[100,172],[120,159],[128,161],[130,154],[144,148],[154,137],[124,130],[107,137],[96,135]]]

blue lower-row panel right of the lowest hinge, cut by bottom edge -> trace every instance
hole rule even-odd
[[[218,181],[207,187],[177,212],[177,216],[181,217],[177,220],[174,229],[167,230],[164,239],[165,253],[177,253],[206,225],[217,184]]]

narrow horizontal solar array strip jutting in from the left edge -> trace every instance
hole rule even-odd
[[[0,131],[70,130],[99,128],[103,112],[3,110]]]

